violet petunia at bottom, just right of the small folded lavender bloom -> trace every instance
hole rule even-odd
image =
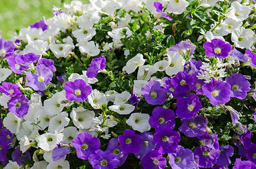
[[[100,139],[91,133],[81,132],[72,140],[72,145],[76,148],[77,157],[87,160],[90,154],[100,148]]]

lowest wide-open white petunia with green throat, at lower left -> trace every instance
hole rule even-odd
[[[57,144],[62,142],[64,134],[47,132],[35,138],[37,146],[44,151],[52,151]]]

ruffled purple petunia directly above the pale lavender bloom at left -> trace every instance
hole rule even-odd
[[[21,54],[16,54],[15,56],[15,61],[18,64],[29,66],[31,63],[36,63],[40,59],[40,55],[35,55],[33,53],[21,55]]]

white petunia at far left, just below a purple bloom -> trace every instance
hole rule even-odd
[[[17,115],[9,112],[3,120],[4,127],[10,130],[10,132],[17,134],[20,130],[22,119],[23,118],[18,118]]]

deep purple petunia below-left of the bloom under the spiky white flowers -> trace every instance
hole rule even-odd
[[[177,101],[176,115],[178,118],[194,118],[202,108],[202,103],[196,94],[188,94],[186,98],[180,97]]]

